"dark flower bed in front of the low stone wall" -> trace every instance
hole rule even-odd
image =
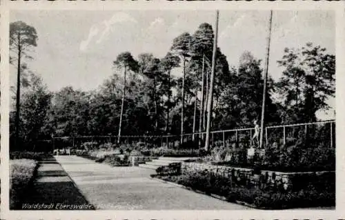
[[[226,201],[244,203],[261,209],[287,209],[316,206],[335,206],[335,184],[321,186],[309,184],[299,190],[266,188],[246,188],[237,181],[221,177],[212,172],[188,172],[180,175],[152,175],[164,181],[171,181],[191,190],[206,194],[217,194]]]

